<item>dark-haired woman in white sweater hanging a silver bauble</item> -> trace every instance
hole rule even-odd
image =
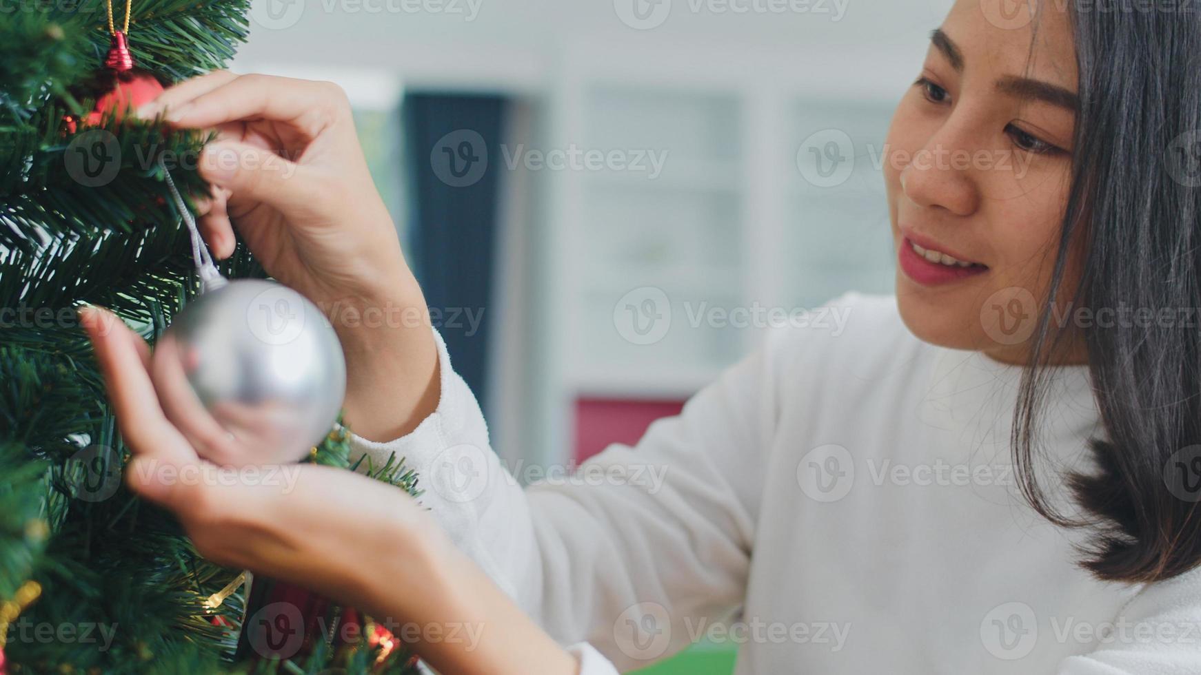
[[[896,297],[837,301],[841,336],[772,335],[593,460],[662,484],[521,492],[432,331],[343,325],[357,452],[426,475],[476,458],[479,481],[429,513],[317,466],[288,494],[174,484],[156,468],[223,440],[168,423],[145,346],[89,312],[133,487],[221,562],[483,627],[418,645],[444,673],[611,673],[721,639],[731,611],[740,673],[1201,673],[1201,335],[1181,319],[1201,299],[1201,22],[1012,5],[958,1],[897,108]],[[203,169],[219,254],[233,218],[319,303],[424,306],[329,85],[213,73],[161,110],[225,137]]]

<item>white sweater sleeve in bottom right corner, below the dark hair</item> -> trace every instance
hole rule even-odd
[[[1148,584],[1097,628],[1097,649],[1065,658],[1059,675],[1201,673],[1201,569]]]

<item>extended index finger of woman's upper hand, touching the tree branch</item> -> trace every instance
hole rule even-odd
[[[174,107],[167,119],[183,127],[213,127],[235,120],[289,123],[312,135],[324,127],[330,104],[345,100],[335,85],[273,76],[239,76]]]

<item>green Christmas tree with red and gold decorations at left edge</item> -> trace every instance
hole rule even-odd
[[[199,287],[165,171],[185,199],[207,194],[195,159],[211,135],[127,114],[138,101],[106,65],[115,35],[141,77],[169,85],[223,67],[247,8],[18,0],[0,22],[0,675],[413,670],[387,631],[311,596],[319,631],[353,620],[358,637],[310,632],[292,658],[245,649],[243,572],[199,558],[125,487],[129,452],[76,319],[101,305],[153,342]],[[221,271],[264,276],[241,245]],[[347,466],[345,432],[311,456]],[[416,492],[401,463],[369,474]]]

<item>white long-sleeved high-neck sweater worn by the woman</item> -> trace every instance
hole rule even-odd
[[[1020,369],[918,340],[892,297],[832,306],[844,332],[770,335],[573,482],[518,487],[441,338],[437,411],[355,451],[419,470],[422,501],[584,675],[701,639],[757,675],[1201,674],[1201,572],[1098,581],[1083,535],[1018,496]],[[1054,386],[1047,466],[1087,468],[1086,369]]]

